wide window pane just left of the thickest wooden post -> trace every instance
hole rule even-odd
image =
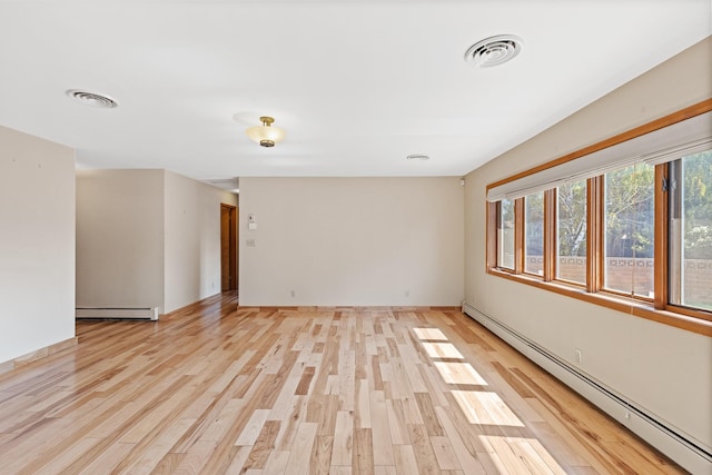
[[[639,164],[605,175],[604,287],[654,297],[655,170]]]

